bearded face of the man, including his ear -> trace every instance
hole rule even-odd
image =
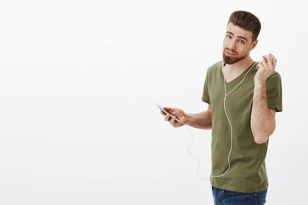
[[[251,31],[241,29],[231,23],[228,24],[223,39],[223,61],[227,64],[233,64],[245,59],[256,45],[256,41],[252,42],[251,37]]]

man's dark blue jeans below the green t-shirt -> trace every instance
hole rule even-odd
[[[214,205],[264,205],[267,189],[258,193],[242,193],[212,186]]]

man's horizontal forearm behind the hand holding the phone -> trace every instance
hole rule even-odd
[[[198,114],[185,114],[185,121],[191,127],[212,129],[212,114],[208,110]]]

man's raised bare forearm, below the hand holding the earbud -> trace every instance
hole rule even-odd
[[[254,86],[250,126],[257,144],[265,143],[275,130],[275,110],[268,108],[265,83]]]

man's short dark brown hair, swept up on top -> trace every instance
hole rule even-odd
[[[261,30],[261,23],[258,17],[247,11],[234,11],[229,17],[229,23],[241,27],[244,30],[251,31],[252,41],[258,38]]]

